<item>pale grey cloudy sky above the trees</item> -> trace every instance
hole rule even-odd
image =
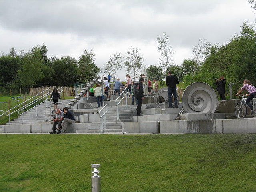
[[[49,58],[78,59],[93,49],[102,68],[111,54],[127,56],[132,45],[148,67],[160,58],[156,38],[165,32],[180,65],[193,58],[199,39],[224,44],[255,18],[248,0],[0,0],[0,53],[44,43]]]

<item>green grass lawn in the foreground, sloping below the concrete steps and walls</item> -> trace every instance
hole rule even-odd
[[[0,134],[1,192],[255,192],[256,134]]]

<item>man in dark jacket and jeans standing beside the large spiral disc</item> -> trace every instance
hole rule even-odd
[[[168,87],[169,107],[172,108],[172,94],[173,94],[174,105],[177,108],[178,102],[177,102],[176,84],[178,84],[179,81],[176,78],[176,76],[172,75],[172,72],[168,71],[168,76],[165,78],[165,83]]]

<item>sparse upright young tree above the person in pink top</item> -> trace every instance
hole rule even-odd
[[[124,63],[124,66],[127,66],[126,72],[133,72],[135,76],[135,74],[138,74],[138,70],[141,69],[143,61],[142,54],[140,54],[140,50],[137,47],[133,48],[132,46],[127,50],[127,53],[130,57],[127,57]]]

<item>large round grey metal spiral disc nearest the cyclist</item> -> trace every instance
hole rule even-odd
[[[204,82],[194,82],[183,92],[182,107],[187,113],[213,113],[218,98],[215,90]]]

